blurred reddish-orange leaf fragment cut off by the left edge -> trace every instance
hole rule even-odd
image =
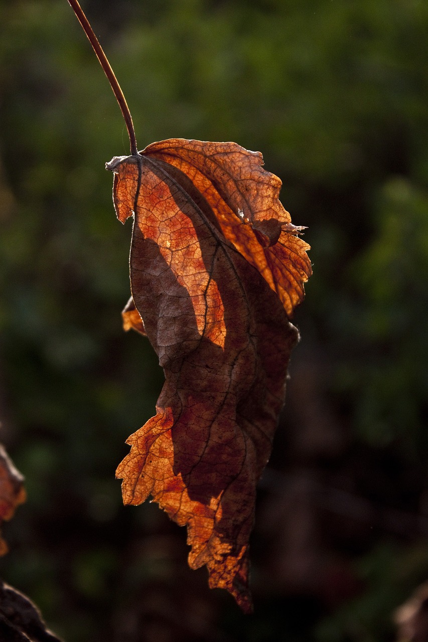
[[[15,508],[26,500],[23,484],[24,478],[0,444],[0,524],[11,519]],[[7,551],[7,544],[0,537],[0,555],[4,555]]]

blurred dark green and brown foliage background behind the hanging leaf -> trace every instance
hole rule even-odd
[[[66,0],[0,0],[0,437],[28,492],[0,575],[67,642],[398,639],[428,579],[428,3],[83,5],[139,148],[262,151],[314,275],[244,616],[187,568],[184,529],[121,505],[163,382],[121,329],[131,229],[104,165],[127,133]]]

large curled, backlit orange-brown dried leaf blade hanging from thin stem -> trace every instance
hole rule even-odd
[[[251,611],[248,540],[311,268],[280,179],[236,143],[171,139],[114,158],[114,204],[135,215],[125,328],[165,370],[156,416],[118,467],[125,504],[152,495],[188,526],[189,564]],[[141,321],[141,319],[142,321]]]

